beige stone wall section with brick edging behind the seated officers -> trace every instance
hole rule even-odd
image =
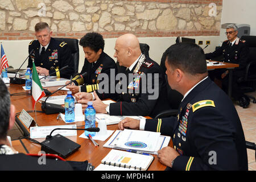
[[[0,40],[34,39],[40,21],[53,36],[77,39],[91,31],[104,38],[219,35],[221,10],[222,0],[0,0]]]

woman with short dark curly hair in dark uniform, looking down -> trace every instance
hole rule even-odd
[[[86,72],[87,75],[85,75],[84,78],[74,81],[71,86],[67,86],[73,94],[98,90],[98,84],[100,83],[98,76],[101,73],[106,73],[110,77],[110,70],[113,69],[113,72],[116,71],[115,61],[104,52],[105,43],[101,34],[89,32],[80,39],[79,44],[82,46],[82,49],[84,49],[85,53],[84,66],[80,74]],[[73,80],[79,77],[79,75],[77,74]],[[109,98],[108,93],[99,94],[97,92],[101,99]]]

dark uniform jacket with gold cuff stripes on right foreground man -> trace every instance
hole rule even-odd
[[[230,98],[209,77],[188,93],[177,117],[146,119],[144,130],[172,137],[180,154],[174,170],[248,169],[240,118]]]

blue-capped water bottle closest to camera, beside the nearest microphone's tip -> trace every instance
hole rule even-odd
[[[92,102],[87,103],[87,108],[84,111],[85,115],[85,129],[88,129],[88,127],[95,127],[95,115],[96,115],[96,110],[93,108]],[[92,137],[95,136],[95,132],[89,132],[85,131],[85,136],[90,134]]]

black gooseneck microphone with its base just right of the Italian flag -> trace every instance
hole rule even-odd
[[[61,88],[55,90],[55,92],[49,94],[49,96],[51,96],[52,94],[56,93],[57,91],[59,91],[60,89],[64,88],[65,86],[71,84],[72,82],[76,81],[77,79],[80,79],[81,77],[84,77],[85,75],[87,75],[87,72],[82,73],[82,75],[80,75],[79,77],[77,77],[75,80],[71,80],[68,84],[62,86]],[[49,98],[49,96],[46,98],[46,100]],[[46,113],[46,114],[55,114],[55,113],[65,113],[65,108],[61,105],[58,104],[52,104],[52,103],[46,103],[46,100],[44,102],[42,102],[41,108],[42,110]]]

